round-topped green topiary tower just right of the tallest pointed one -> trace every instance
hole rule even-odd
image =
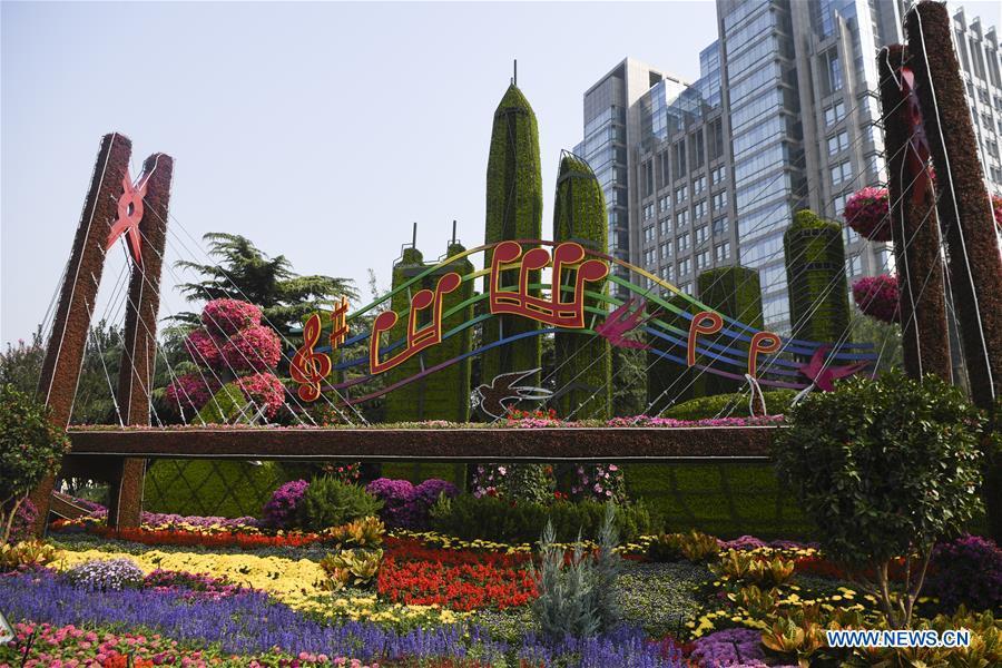
[[[609,232],[606,220],[606,198],[595,173],[586,161],[566,154],[560,160],[557,177],[553,240],[577,242],[586,248],[607,253]],[[568,279],[572,281],[572,276],[566,277],[564,284]],[[602,292],[605,282],[591,284],[590,289]],[[599,299],[588,299],[586,305],[606,307]],[[589,326],[601,322],[597,320],[592,323],[592,318],[598,316],[589,314],[586,317]],[[611,416],[612,353],[607,340],[598,335],[558,332],[554,335],[553,364],[557,369],[557,392],[561,393],[554,406],[558,415],[573,413],[579,420],[607,420]]]

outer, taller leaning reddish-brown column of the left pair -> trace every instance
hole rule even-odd
[[[52,334],[38,383],[38,395],[51,410],[52,421],[60,428],[69,424],[73,399],[98,285],[105,267],[105,244],[111,223],[118,215],[115,199],[121,193],[121,179],[129,166],[132,143],[128,137],[111,132],[101,138],[94,176],[84,204],[80,225],[67,265],[59,294],[59,306],[52,321]],[[42,248],[48,245],[40,243]],[[46,525],[49,495],[56,483],[48,477],[31,493],[38,508],[36,533]]]

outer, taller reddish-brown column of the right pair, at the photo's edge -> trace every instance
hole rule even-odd
[[[1002,393],[1002,257],[951,27],[946,8],[937,2],[921,2],[905,21],[922,119],[939,175],[937,208],[971,394],[975,404],[993,411],[993,397]],[[1002,462],[999,454],[994,458],[986,468],[984,495],[992,534],[1000,539]]]

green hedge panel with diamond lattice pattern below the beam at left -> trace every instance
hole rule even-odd
[[[277,462],[160,460],[146,473],[143,510],[256,517],[285,478]]]

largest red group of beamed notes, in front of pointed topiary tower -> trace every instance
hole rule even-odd
[[[519,258],[521,257],[521,262]],[[554,327],[582,328],[584,326],[584,282],[601,281],[609,274],[609,267],[600,259],[584,259],[584,248],[572,242],[553,249],[553,277],[550,297],[529,294],[530,274],[550,264],[550,253],[546,248],[531,248],[522,255],[518,242],[502,242],[494,248],[491,258],[490,304],[494,315],[508,313],[521,315]],[[501,285],[502,272],[519,271],[515,289]],[[560,288],[563,274],[573,273],[573,292],[570,301],[564,301]]]

